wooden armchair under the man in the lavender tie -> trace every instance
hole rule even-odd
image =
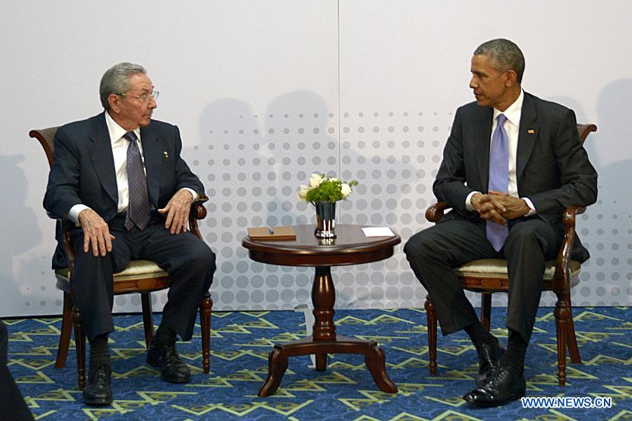
[[[597,131],[594,124],[578,124],[579,140],[583,144],[588,134]],[[444,211],[449,208],[445,202],[435,203],[426,210],[426,219],[439,222]],[[543,291],[553,291],[558,297],[555,304],[555,329],[558,342],[558,381],[560,386],[566,383],[566,348],[573,363],[581,363],[570,299],[570,288],[579,283],[577,260],[571,260],[575,235],[575,217],[584,213],[586,208],[570,206],[562,214],[565,227],[564,241],[555,260],[546,262],[543,278]],[[503,259],[473,260],[455,269],[464,289],[481,294],[481,316],[483,326],[489,330],[492,314],[492,293],[506,293],[509,289],[507,261]],[[430,373],[437,373],[437,317],[430,296],[426,297],[426,321],[428,323],[428,357]]]

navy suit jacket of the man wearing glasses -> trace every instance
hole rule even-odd
[[[140,140],[147,190],[155,209],[164,208],[183,187],[204,196],[202,182],[180,156],[182,140],[177,126],[152,120],[140,128]],[[53,157],[44,196],[48,213],[62,219],[72,206],[82,203],[106,222],[117,215],[119,193],[105,114],[60,127],[55,133]],[[53,258],[53,267],[60,264]]]

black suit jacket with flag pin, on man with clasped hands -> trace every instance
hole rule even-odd
[[[466,210],[470,192],[487,192],[491,107],[476,102],[456,110],[443,161],[433,184],[437,199],[453,210],[450,218],[467,218],[485,224],[478,213]],[[579,142],[577,121],[571,109],[525,92],[516,154],[518,195],[529,198],[538,218],[559,223],[568,206],[588,206],[597,200],[597,172]],[[588,251],[576,241],[579,260]]]

